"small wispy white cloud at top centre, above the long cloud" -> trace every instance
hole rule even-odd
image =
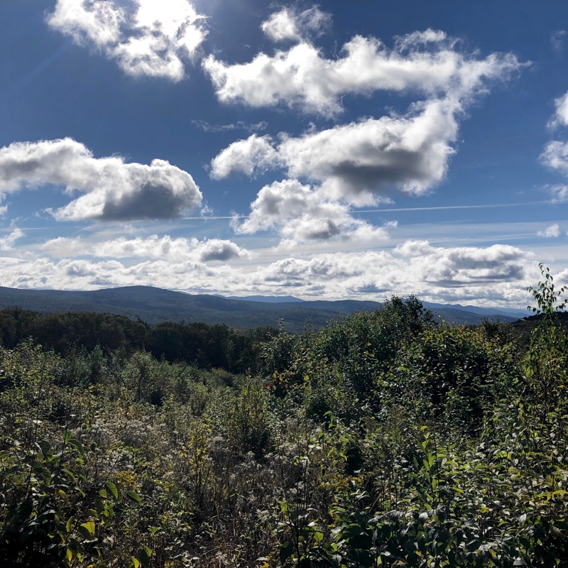
[[[301,40],[306,35],[317,34],[329,26],[331,16],[317,6],[298,13],[284,8],[263,22],[262,31],[273,41]]]

